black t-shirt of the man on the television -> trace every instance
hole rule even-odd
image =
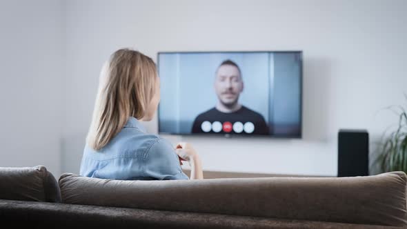
[[[205,124],[210,123],[209,128],[208,125],[202,125],[204,121],[206,121]],[[227,126],[232,126],[232,128],[228,130]],[[212,108],[195,118],[192,133],[268,135],[268,126],[263,116],[245,106],[241,106],[239,110],[230,113],[220,112],[216,108]]]

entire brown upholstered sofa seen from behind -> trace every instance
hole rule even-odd
[[[117,181],[67,173],[55,185],[42,166],[16,172],[21,169],[0,168],[0,188],[9,192],[0,192],[0,219],[14,226],[407,228],[404,172],[200,181]]]

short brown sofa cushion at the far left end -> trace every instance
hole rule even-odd
[[[61,202],[57,180],[44,166],[0,167],[0,199]]]

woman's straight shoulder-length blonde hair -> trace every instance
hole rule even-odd
[[[121,49],[101,70],[99,89],[86,142],[100,150],[120,132],[129,117],[141,119],[155,93],[157,68],[141,52]]]

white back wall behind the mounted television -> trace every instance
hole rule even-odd
[[[303,50],[303,139],[169,139],[193,143],[205,170],[335,176],[339,128],[366,128],[373,144],[396,121],[378,111],[406,104],[406,11],[404,0],[67,1],[62,172],[79,172],[103,61],[132,47],[154,59]],[[157,119],[146,126],[157,132]]]

